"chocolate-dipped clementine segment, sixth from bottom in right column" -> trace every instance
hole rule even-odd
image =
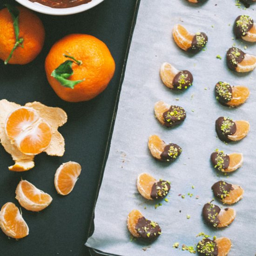
[[[239,106],[249,98],[249,94],[249,88],[244,86],[231,86],[222,81],[215,86],[216,99],[224,106]]]

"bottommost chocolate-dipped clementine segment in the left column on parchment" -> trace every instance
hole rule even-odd
[[[135,209],[128,215],[127,227],[133,236],[146,241],[154,241],[161,235],[158,223],[147,220],[139,210]]]

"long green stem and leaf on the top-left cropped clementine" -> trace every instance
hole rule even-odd
[[[16,42],[15,42],[15,44],[13,46],[13,49],[12,49],[11,53],[9,54],[8,58],[5,60],[5,65],[12,58],[13,52],[15,51],[15,49],[19,46],[23,47],[23,41],[24,41],[23,38],[19,38],[19,34],[20,34],[19,15],[20,15],[20,11],[16,7],[14,7],[10,4],[6,4],[6,7],[8,9],[8,12],[12,16],[12,19],[13,19],[13,28],[14,28]]]

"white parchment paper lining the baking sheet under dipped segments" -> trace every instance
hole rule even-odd
[[[256,20],[254,8],[256,5],[246,10],[238,8],[235,0],[208,0],[202,5],[189,4],[187,0],[141,0],[95,209],[95,231],[87,246],[122,256],[189,255],[172,245],[175,242],[180,247],[194,245],[200,241],[195,236],[205,232],[229,237],[233,243],[229,256],[255,256],[256,71],[236,74],[228,70],[225,60],[227,50],[234,43],[242,50],[247,46],[245,52],[256,54],[256,44],[232,39],[236,17],[249,14]],[[207,33],[207,49],[190,55],[178,48],[171,35],[177,23],[191,32]],[[222,60],[216,58],[218,54]],[[183,93],[166,88],[159,76],[159,68],[165,61],[179,70],[188,69],[194,75],[194,85]],[[248,86],[249,100],[239,108],[223,107],[214,96],[218,81]],[[154,104],[160,100],[185,108],[187,119],[182,125],[171,129],[162,127],[154,116]],[[249,121],[249,135],[243,141],[224,144],[216,138],[215,121],[219,116]],[[165,164],[153,159],[147,146],[148,136],[152,134],[182,147],[182,155],[176,162]],[[243,167],[229,176],[216,172],[209,160],[216,148],[227,154],[242,152]],[[162,201],[162,206],[155,209],[155,202],[148,202],[138,193],[136,178],[141,172],[171,182],[169,202]],[[211,186],[222,179],[242,186],[245,193],[243,200],[231,206],[236,209],[235,221],[228,228],[213,229],[204,223],[202,207],[213,198]],[[188,193],[193,196],[189,197]],[[179,194],[186,196],[182,199]],[[222,206],[217,200],[215,203]],[[132,209],[139,209],[162,228],[162,235],[145,251],[142,248],[147,244],[130,241],[126,220]]]

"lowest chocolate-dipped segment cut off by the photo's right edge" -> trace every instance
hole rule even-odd
[[[229,48],[227,52],[229,69],[236,72],[249,72],[256,67],[256,56],[246,54],[237,47]]]

